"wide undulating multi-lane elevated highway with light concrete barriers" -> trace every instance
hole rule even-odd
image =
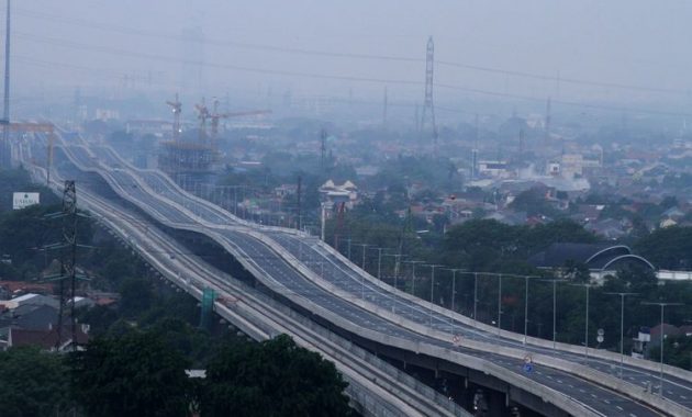
[[[98,179],[109,193],[94,199],[120,212],[126,202],[161,227],[203,236],[231,253],[257,282],[300,312],[381,356],[490,385],[514,402],[546,415],[689,415],[690,373],[666,368],[666,397],[657,365],[627,358],[624,379],[613,370],[620,357],[498,331],[468,317],[390,288],[327,245],[291,229],[261,227],[187,194],[157,171],[136,170],[111,149],[63,143],[64,156],[86,184]],[[88,176],[88,177],[87,177]],[[82,190],[82,188],[80,188]],[[103,190],[101,190],[103,191]],[[457,338],[455,338],[457,336]],[[459,339],[453,343],[453,340]],[[536,371],[523,371],[531,356]],[[457,399],[457,398],[455,398]]]

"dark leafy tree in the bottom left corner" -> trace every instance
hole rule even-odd
[[[67,367],[58,354],[37,348],[0,352],[0,414],[49,416],[69,408]]]

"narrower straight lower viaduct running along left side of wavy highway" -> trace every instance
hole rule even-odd
[[[32,172],[35,179],[45,179],[44,169],[32,167]],[[60,179],[59,173],[54,173],[52,188],[56,192],[62,192]],[[406,373],[191,255],[188,248],[126,204],[103,203],[103,198],[93,191],[93,184],[81,182],[78,199],[82,208],[89,210],[98,223],[138,253],[161,279],[198,300],[205,288],[214,289],[220,295],[215,312],[244,334],[255,340],[289,334],[300,346],[333,361],[349,383],[347,394],[351,406],[361,415],[470,416]]]

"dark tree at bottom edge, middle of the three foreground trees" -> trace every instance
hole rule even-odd
[[[188,361],[157,334],[97,338],[70,364],[75,399],[90,416],[188,415]]]

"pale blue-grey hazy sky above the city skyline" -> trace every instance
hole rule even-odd
[[[186,53],[187,59],[205,63],[208,94],[271,90],[280,95],[291,89],[294,95],[379,98],[388,86],[395,99],[421,101],[429,35],[435,40],[440,84],[435,93],[440,101],[492,97],[465,90],[473,89],[565,101],[682,102],[689,101],[681,93],[691,86],[692,2],[687,0],[32,0],[14,1],[13,9],[12,67],[19,92],[67,91],[78,84],[85,91],[115,91],[125,83],[125,74],[148,88],[150,71],[152,89],[172,94],[181,88]],[[182,31],[190,27],[201,27],[208,42],[181,42]],[[443,61],[673,91],[567,81],[558,89],[550,79]]]

